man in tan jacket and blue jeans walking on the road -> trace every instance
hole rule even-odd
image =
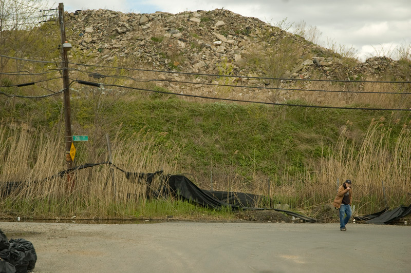
[[[340,209],[340,230],[347,231],[345,225],[351,218],[351,202],[352,202],[352,189],[351,180],[346,180],[339,188],[337,196],[334,199],[332,205],[335,208]],[[344,218],[345,216],[345,218]]]

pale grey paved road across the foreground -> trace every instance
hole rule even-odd
[[[34,272],[410,272],[411,227],[0,222],[33,243]],[[11,235],[11,236],[10,236]]]

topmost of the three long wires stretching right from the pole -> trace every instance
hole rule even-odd
[[[192,72],[162,71],[162,70],[127,68],[127,67],[116,67],[116,66],[86,65],[86,64],[70,63],[70,62],[69,62],[69,64],[79,65],[79,66],[88,66],[88,67],[115,68],[115,69],[135,70],[135,71],[144,71],[144,72],[156,72],[156,73],[170,73],[170,74],[198,75],[198,76],[214,76],[214,77],[236,77],[236,78],[239,78],[239,79],[306,81],[306,82],[340,82],[340,83],[398,83],[398,84],[411,84],[411,82],[406,82],[406,81],[347,81],[347,80],[289,79],[289,78],[281,78],[281,77],[255,77],[255,76],[217,75],[217,74],[202,74],[202,73],[192,73]]]

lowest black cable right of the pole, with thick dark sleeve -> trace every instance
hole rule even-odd
[[[272,103],[272,102],[258,102],[258,101],[246,101],[246,100],[236,100],[236,99],[223,99],[219,97],[210,97],[210,96],[200,96],[200,95],[191,95],[191,94],[182,94],[182,93],[174,93],[174,92],[165,92],[165,91],[158,91],[152,89],[144,89],[144,88],[137,88],[137,87],[130,87],[130,86],[123,86],[123,85],[116,85],[116,84],[98,84],[92,83],[87,81],[76,80],[76,82],[91,86],[114,86],[114,87],[122,87],[127,89],[134,89],[140,91],[148,91],[148,92],[155,92],[155,93],[162,93],[162,94],[169,94],[169,95],[178,95],[178,96],[189,96],[189,97],[198,97],[200,99],[208,99],[208,100],[218,100],[218,101],[231,101],[231,102],[244,102],[244,103],[257,103],[257,104],[266,104],[266,105],[281,105],[281,106],[293,106],[293,107],[307,107],[307,108],[326,108],[326,109],[347,109],[347,110],[376,110],[376,111],[411,111],[410,109],[397,109],[397,108],[365,108],[365,107],[338,107],[338,106],[317,106],[317,105],[301,105],[301,104],[286,104],[286,103]]]

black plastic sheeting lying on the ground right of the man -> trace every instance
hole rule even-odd
[[[406,206],[399,206],[393,210],[384,209],[380,212],[367,214],[365,216],[356,217],[356,220],[366,220],[365,223],[367,224],[377,224],[377,225],[384,225],[394,222],[398,219],[404,218],[408,214],[411,213],[411,205],[408,207]]]

